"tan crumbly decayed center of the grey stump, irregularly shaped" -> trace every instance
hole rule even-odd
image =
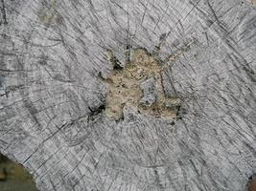
[[[108,61],[113,65],[113,71],[105,79],[108,84],[107,117],[122,118],[125,106],[132,106],[138,113],[153,117],[177,116],[181,100],[165,95],[162,80],[165,64],[144,49],[133,50],[130,62],[125,67],[110,51]]]

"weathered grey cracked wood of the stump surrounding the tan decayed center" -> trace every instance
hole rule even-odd
[[[256,11],[239,0],[1,0],[0,152],[39,190],[244,191],[256,171]],[[190,43],[192,42],[193,43]],[[189,47],[187,46],[188,44]],[[129,49],[168,61],[179,118],[105,115]]]

